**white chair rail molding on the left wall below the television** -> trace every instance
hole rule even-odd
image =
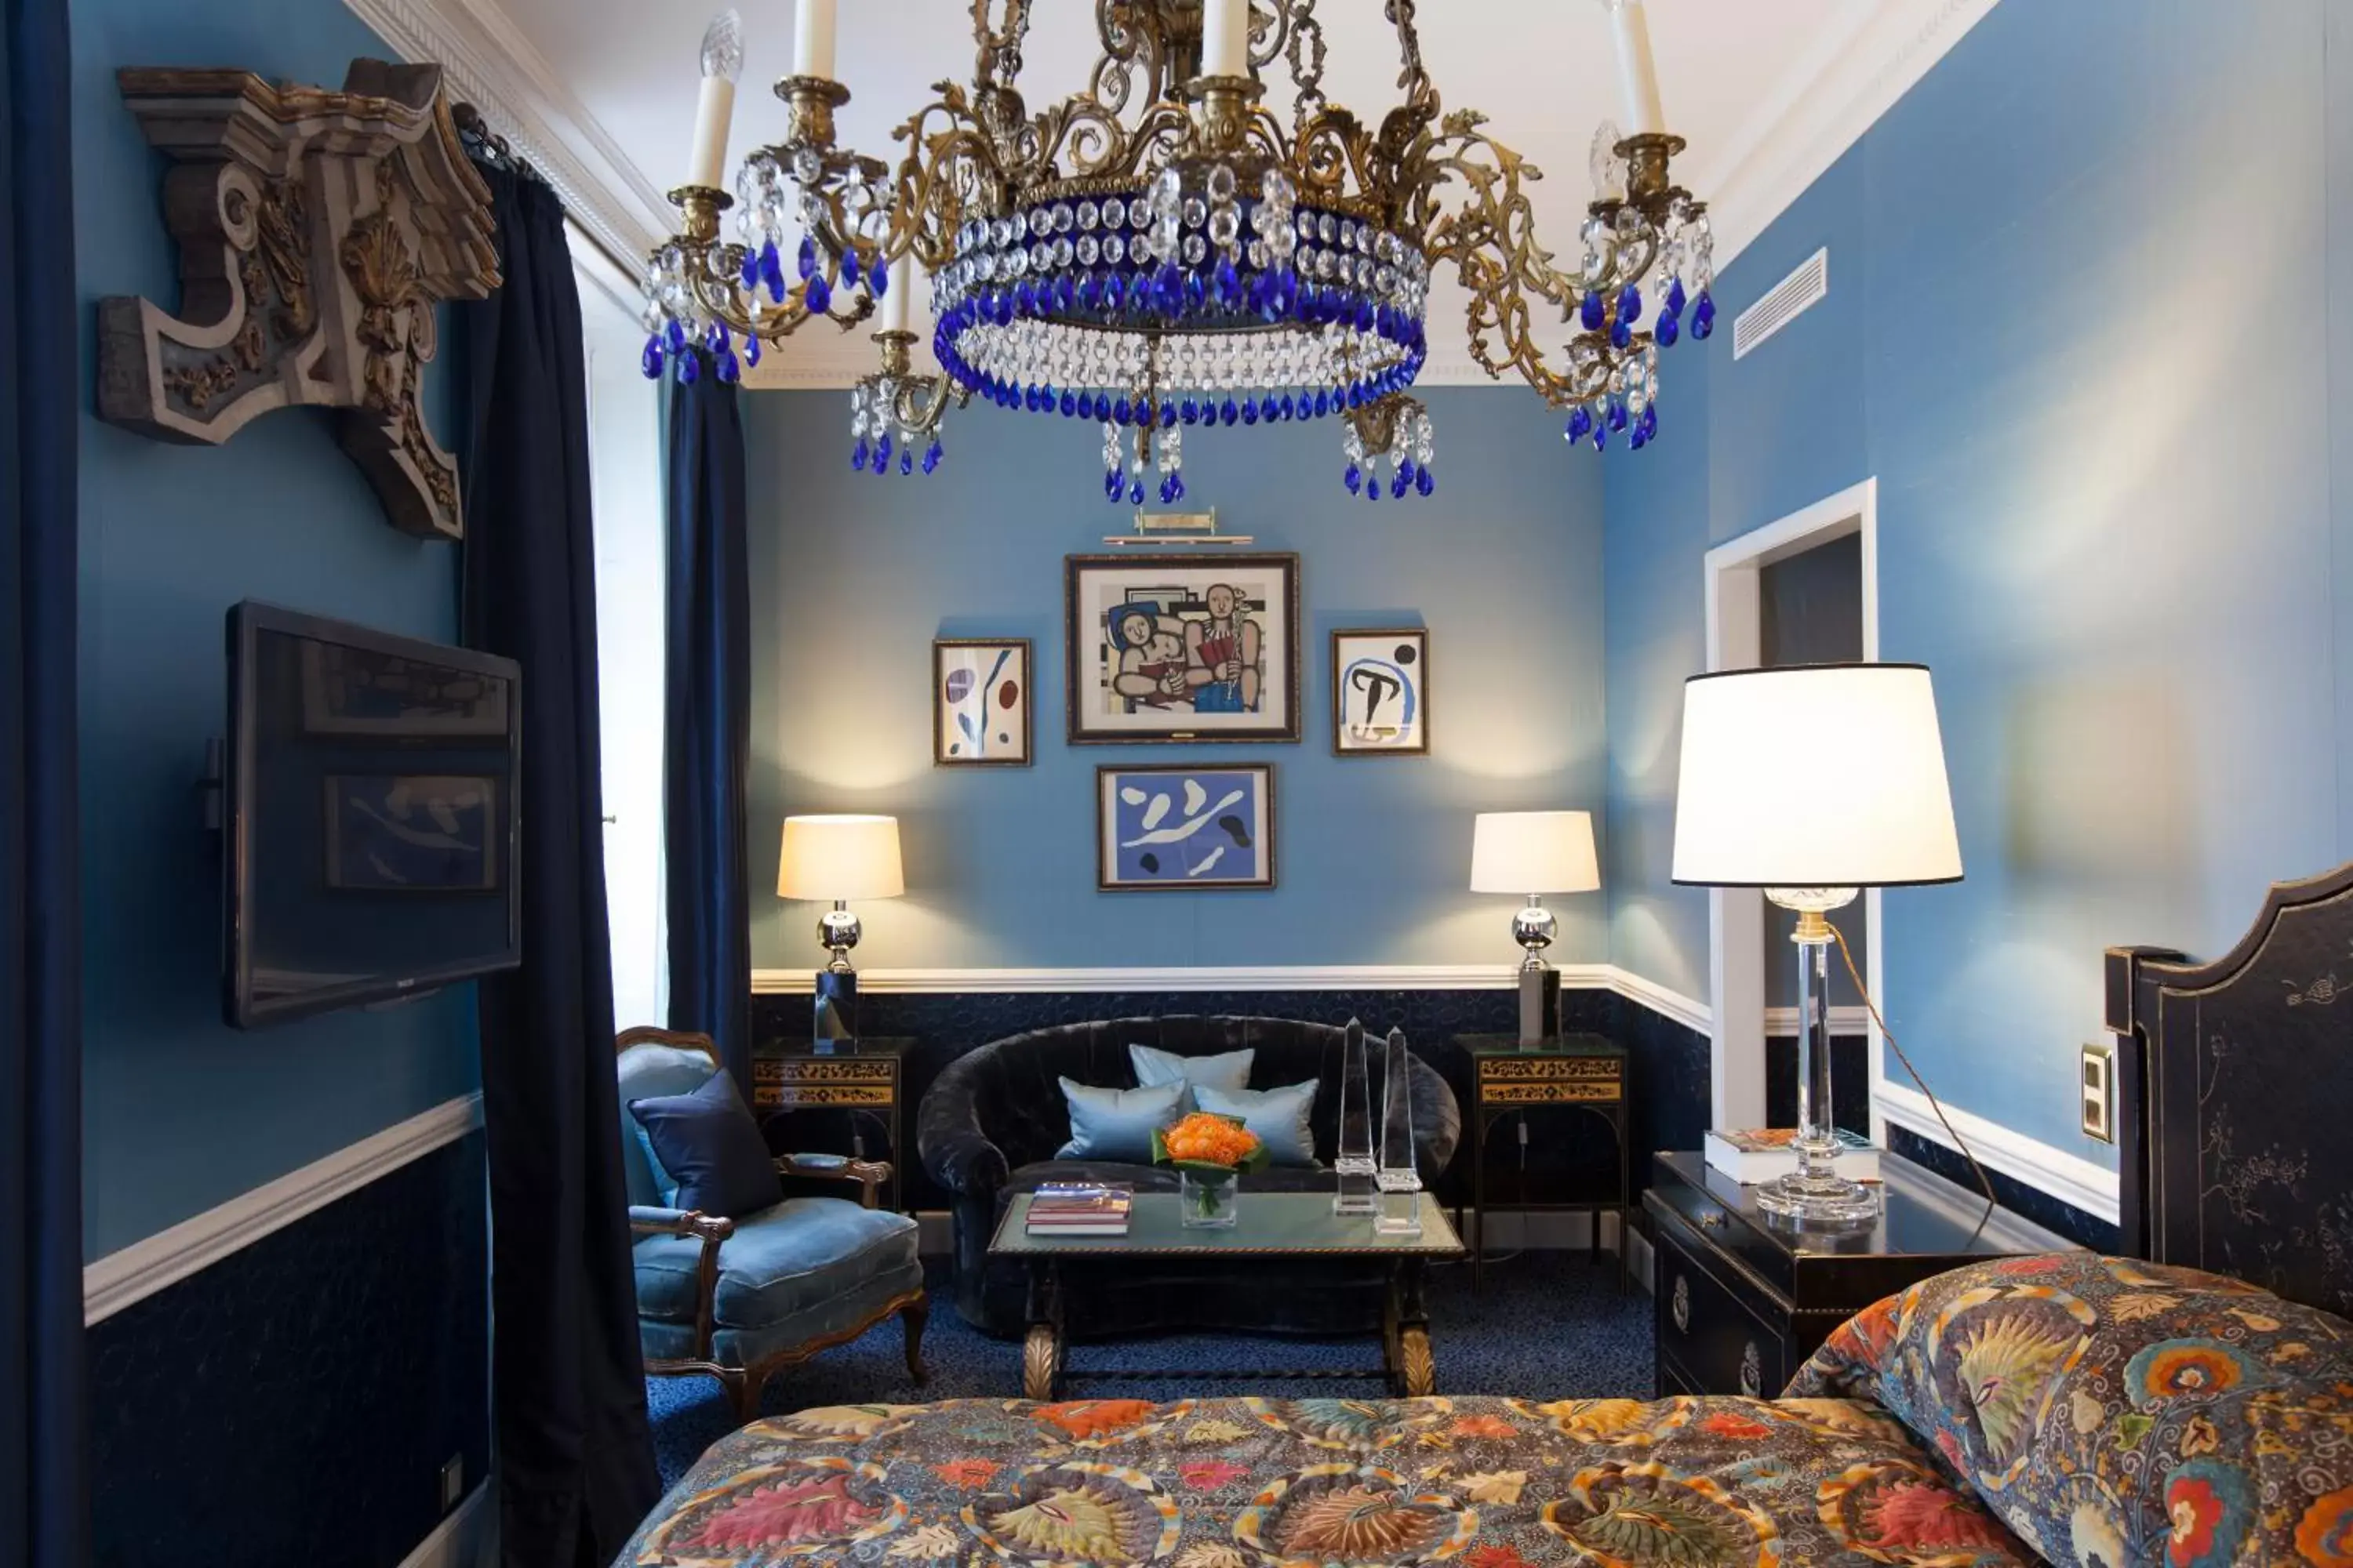
[[[445,1100],[144,1241],[106,1253],[96,1262],[82,1265],[82,1321],[96,1324],[113,1316],[219,1262],[240,1246],[358,1192],[379,1175],[388,1175],[445,1143],[456,1143],[478,1126],[482,1126],[480,1093]]]

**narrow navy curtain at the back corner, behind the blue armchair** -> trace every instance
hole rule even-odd
[[[671,1027],[701,1030],[751,1098],[751,567],[744,418],[713,374],[671,383],[664,860]]]

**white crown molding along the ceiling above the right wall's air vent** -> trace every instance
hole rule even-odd
[[[1995,0],[1849,0],[1847,26],[1781,78],[1758,113],[1685,176],[1708,202],[1725,268],[1927,75]]]

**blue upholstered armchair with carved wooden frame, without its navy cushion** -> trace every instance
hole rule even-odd
[[[779,1154],[774,1206],[744,1215],[671,1208],[678,1185],[654,1159],[628,1105],[701,1088],[720,1070],[718,1051],[708,1034],[649,1027],[624,1030],[614,1051],[645,1371],[718,1378],[736,1415],[751,1420],[776,1371],[899,1314],[906,1371],[922,1382],[929,1305],[915,1220],[875,1208],[889,1166],[840,1154]],[[781,1178],[856,1182],[861,1201],[784,1197]]]

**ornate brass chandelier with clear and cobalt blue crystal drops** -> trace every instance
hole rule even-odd
[[[1414,0],[1384,7],[1402,101],[1379,127],[1325,99],[1315,0],[1096,0],[1087,87],[1035,113],[1014,85],[1031,2],[974,0],[974,80],[939,82],[899,125],[896,167],[835,146],[849,89],[833,0],[800,0],[786,136],[746,158],[734,197],[718,188],[741,66],[729,12],[704,42],[680,233],[647,273],[645,371],[734,378],[765,343],[880,306],[882,371],[852,397],[861,470],[929,473],[948,404],[981,397],[1099,423],[1104,494],[1127,505],[1184,498],[1188,433],[1311,418],[1339,421],[1351,491],[1428,496],[1435,437],[1412,388],[1431,280],[1452,266],[1489,376],[1511,369],[1565,409],[1572,442],[1640,449],[1659,433],[1659,350],[1713,331],[1713,259],[1706,207],[1668,172],[1682,139],[1659,129],[1642,2],[1600,2],[1633,134],[1595,141],[1577,273],[1534,235],[1539,169],[1478,110],[1440,108]],[[1278,61],[1297,87],[1287,127],[1261,106]],[[908,369],[913,266],[944,376]]]

